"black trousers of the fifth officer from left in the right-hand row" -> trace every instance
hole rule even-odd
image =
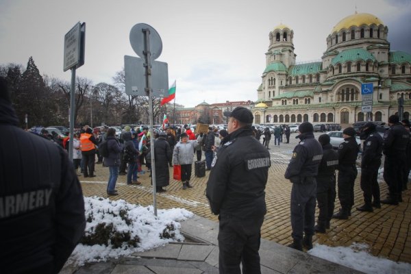
[[[406,163],[406,154],[386,155],[384,161],[384,180],[388,184],[388,191],[392,198],[398,199],[402,191],[403,165]]]

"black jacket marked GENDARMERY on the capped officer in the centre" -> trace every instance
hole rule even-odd
[[[266,213],[270,153],[242,127],[223,139],[214,157],[206,196],[213,214],[254,219]]]

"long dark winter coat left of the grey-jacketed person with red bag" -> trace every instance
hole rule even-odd
[[[168,186],[170,184],[169,161],[171,149],[166,138],[160,136],[154,141],[155,158],[155,186]]]

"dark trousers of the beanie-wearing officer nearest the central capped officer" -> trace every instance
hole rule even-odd
[[[302,240],[306,236],[314,235],[316,182],[292,184],[291,188],[291,228],[292,238]]]

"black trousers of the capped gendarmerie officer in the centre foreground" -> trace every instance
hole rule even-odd
[[[240,220],[219,216],[219,271],[220,273],[260,274],[260,229],[264,216]]]

